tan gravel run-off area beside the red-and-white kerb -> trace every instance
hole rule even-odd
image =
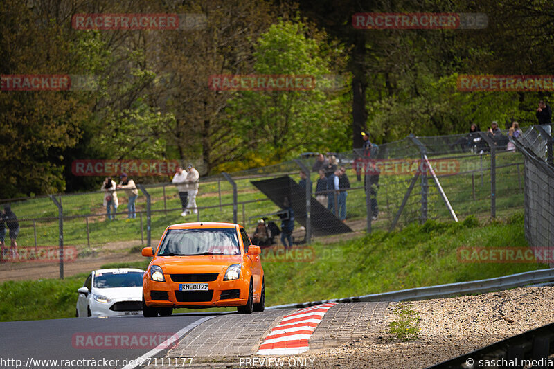
[[[337,348],[298,355],[313,368],[427,368],[554,321],[554,287],[522,287],[479,296],[408,304],[418,312],[418,339],[388,333],[397,303],[388,305],[378,334]],[[285,360],[285,363],[287,360]]]

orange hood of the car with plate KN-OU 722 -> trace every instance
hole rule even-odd
[[[164,273],[222,273],[232,264],[241,264],[242,255],[158,256],[154,264]]]

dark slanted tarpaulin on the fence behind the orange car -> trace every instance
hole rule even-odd
[[[285,197],[289,197],[290,205],[294,210],[294,220],[306,226],[306,193],[291,177],[277,177],[262,181],[251,181],[271,201],[283,209]],[[349,226],[335,217],[325,206],[312,197],[312,233],[316,236],[337,235],[352,232]]]

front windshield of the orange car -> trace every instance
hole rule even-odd
[[[239,254],[234,228],[170,229],[158,253],[159,256]]]

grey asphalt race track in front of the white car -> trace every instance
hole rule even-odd
[[[165,341],[167,336],[181,330],[183,330],[181,334],[186,335],[195,326],[195,323],[224,314],[229,314],[229,312],[176,314],[158,318],[144,318],[141,314],[139,316],[111,318],[4,322],[0,323],[2,358],[13,359],[12,364],[16,360],[21,360],[21,366],[29,363],[27,367],[30,368],[53,367],[31,365],[33,361],[40,359],[106,359],[108,361],[118,359],[115,367],[122,368],[125,359],[128,363],[129,360],[137,359],[143,354],[151,352],[157,346],[157,343]],[[184,330],[187,327],[188,329]],[[134,348],[136,345],[133,346],[132,344],[124,344],[127,348],[118,346],[119,341],[116,340],[121,340],[125,336],[129,339],[129,343],[136,343],[139,348]],[[132,341],[132,337],[135,341]],[[154,337],[154,339],[147,339],[146,337]],[[78,339],[81,339],[81,341],[77,341]],[[94,347],[82,348],[83,343],[87,342],[92,343]],[[129,348],[129,346],[133,347]],[[163,353],[163,350],[160,352]],[[30,362],[28,362],[29,359]],[[0,363],[0,366],[2,368],[15,368],[15,365],[10,365],[10,362]],[[78,366],[73,367],[77,368]],[[109,366],[98,367],[109,368]],[[113,367],[111,366],[111,368]]]

